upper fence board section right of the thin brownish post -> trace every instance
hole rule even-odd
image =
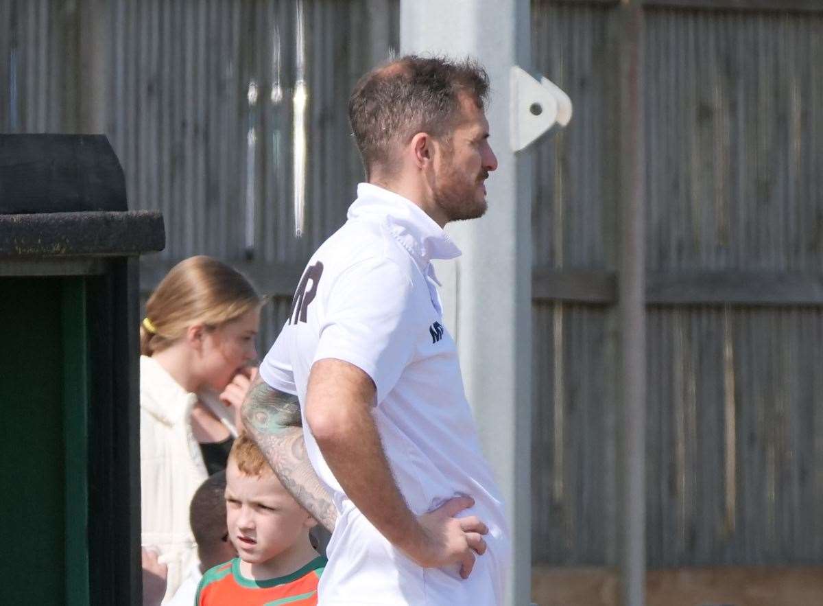
[[[646,39],[649,270],[819,272],[823,16],[648,10]]]

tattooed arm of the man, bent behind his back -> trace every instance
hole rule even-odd
[[[243,403],[243,423],[292,496],[329,531],[337,510],[309,463],[297,397],[256,380]]]

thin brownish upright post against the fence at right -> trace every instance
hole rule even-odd
[[[621,411],[617,478],[621,490],[621,596],[624,606],[645,603],[646,315],[644,250],[643,8],[622,0],[620,50]]]

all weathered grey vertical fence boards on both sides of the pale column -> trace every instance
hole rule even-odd
[[[570,128],[535,153],[535,263],[612,270],[611,7],[533,6],[534,68],[575,104]],[[0,0],[0,130],[77,132],[91,111],[132,207],[164,213],[152,277],[198,253],[264,284],[299,272],[360,179],[351,85],[398,45],[398,0],[304,7],[301,240],[296,2]],[[90,42],[90,30],[104,35]],[[645,46],[649,268],[819,271],[823,17],[649,8]],[[267,306],[262,344],[288,305]],[[534,559],[613,563],[615,318],[582,303],[534,314]],[[820,343],[819,307],[649,311],[651,566],[823,561]]]

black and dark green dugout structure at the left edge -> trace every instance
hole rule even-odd
[[[100,135],[0,135],[0,604],[141,595],[137,257]]]

